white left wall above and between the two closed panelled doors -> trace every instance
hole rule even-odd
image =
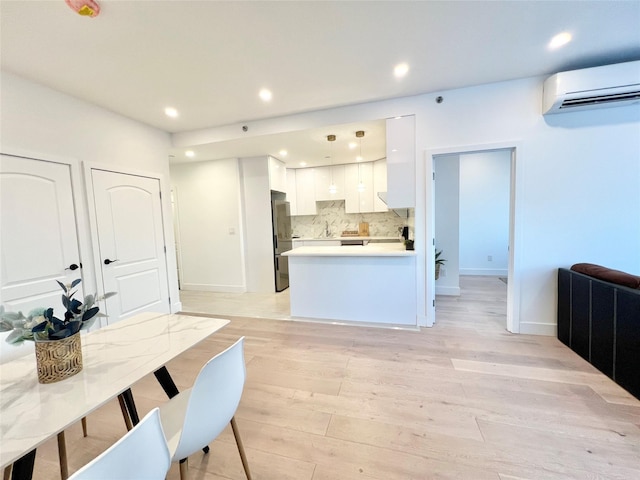
[[[162,208],[169,291],[172,310],[179,310],[169,195],[169,134],[6,72],[0,73],[0,92],[2,153],[71,165],[83,284],[88,291],[99,289],[96,265],[100,259],[93,252],[83,163],[160,177],[166,193]]]

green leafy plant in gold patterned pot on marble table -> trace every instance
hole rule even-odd
[[[76,279],[68,285],[58,282],[64,291],[62,306],[64,318],[54,316],[53,308],[35,308],[25,317],[22,312],[6,312],[0,306],[0,332],[11,331],[6,341],[19,344],[32,340],[36,346],[36,362],[40,383],[53,383],[68,378],[82,370],[82,346],[80,330],[89,328],[100,313],[97,302],[105,300],[115,292],[102,296],[86,295],[84,302],[73,298]]]

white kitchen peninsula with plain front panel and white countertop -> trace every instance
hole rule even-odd
[[[416,255],[402,243],[304,246],[283,255],[292,317],[416,325]]]

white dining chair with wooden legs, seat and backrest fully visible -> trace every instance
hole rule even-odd
[[[187,457],[211,443],[230,423],[242,466],[251,480],[234,415],[240,404],[246,369],[244,337],[209,360],[193,386],[160,406],[171,461],[180,462],[180,478],[187,480]]]

